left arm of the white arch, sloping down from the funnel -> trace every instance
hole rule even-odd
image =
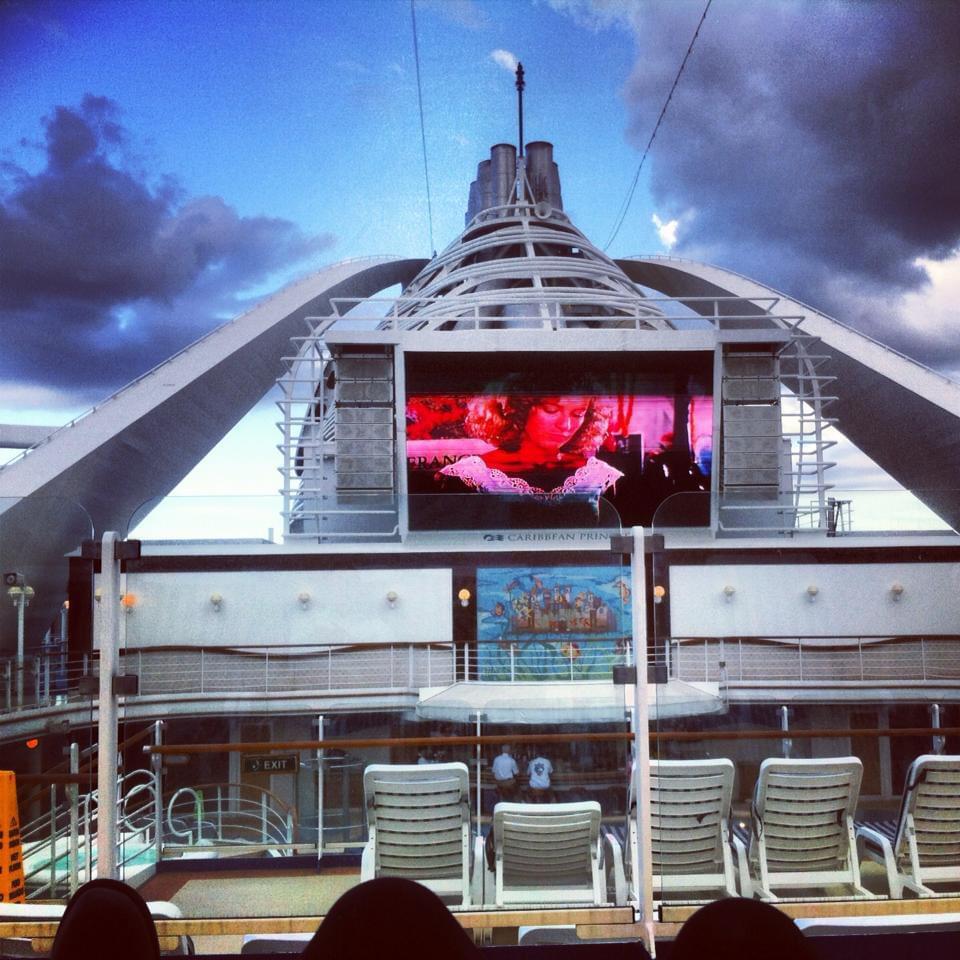
[[[125,534],[138,507],[166,496],[274,385],[307,316],[406,284],[426,262],[348,260],[291,283],[0,469],[0,569],[36,590],[28,636],[64,599],[64,554],[104,530]],[[15,643],[4,603],[0,650]]]

